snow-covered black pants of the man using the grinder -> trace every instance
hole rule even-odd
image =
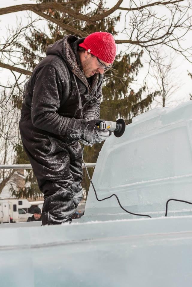
[[[71,221],[82,198],[82,148],[78,141],[63,142],[20,121],[23,147],[44,194],[42,224]]]

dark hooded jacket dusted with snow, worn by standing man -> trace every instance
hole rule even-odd
[[[21,121],[44,135],[63,140],[72,118],[99,118],[103,75],[84,76],[77,52],[83,40],[68,35],[49,45],[25,85]]]

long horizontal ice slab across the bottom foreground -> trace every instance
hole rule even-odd
[[[3,228],[1,287],[191,287],[192,216]]]

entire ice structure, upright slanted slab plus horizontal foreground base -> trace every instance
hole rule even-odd
[[[192,101],[135,117],[111,136],[93,174],[85,215],[72,224],[0,225],[1,287],[191,287]],[[4,227],[4,228],[2,228]]]

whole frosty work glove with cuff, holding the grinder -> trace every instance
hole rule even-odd
[[[67,129],[67,138],[81,140],[82,144],[90,146],[105,141],[111,135],[111,132],[103,131],[96,126],[102,121],[75,120],[72,118]]]

